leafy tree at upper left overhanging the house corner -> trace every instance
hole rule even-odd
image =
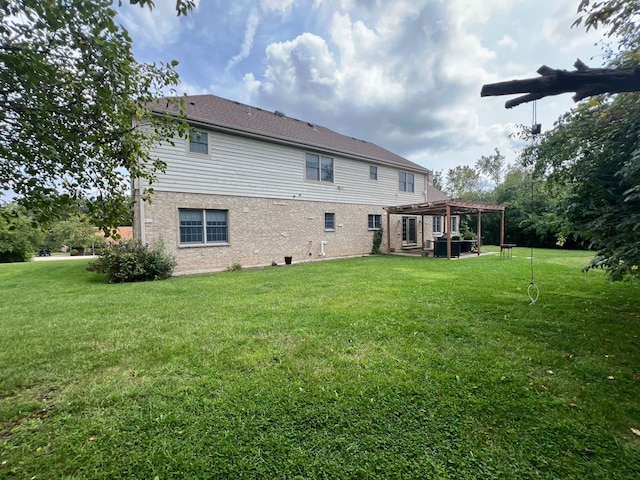
[[[176,2],[178,14],[192,7]],[[177,62],[136,62],[110,0],[3,0],[0,15],[5,198],[41,222],[83,199],[96,225],[117,226],[130,215],[129,177],[153,182],[164,168],[150,146],[184,134],[148,109],[175,94]]]

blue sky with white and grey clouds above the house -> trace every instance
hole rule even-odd
[[[571,28],[579,0],[200,0],[177,17],[126,5],[139,61],[178,60],[179,91],[211,93],[371,141],[446,174],[531,125],[532,104],[480,97],[483,84],[543,64],[602,66],[599,32]],[[537,103],[543,130],[574,105]]]

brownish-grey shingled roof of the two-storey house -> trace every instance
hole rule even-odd
[[[341,135],[320,125],[287,117],[280,112],[270,112],[215,95],[180,98],[184,99],[187,120],[190,123],[201,124],[213,130],[234,131],[270,141],[293,143],[306,148],[391,164],[412,171],[430,172],[371,142]],[[169,111],[167,103],[163,101],[159,101],[153,110]]]

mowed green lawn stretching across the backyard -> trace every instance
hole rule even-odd
[[[640,478],[640,284],[528,256],[0,265],[0,478]]]

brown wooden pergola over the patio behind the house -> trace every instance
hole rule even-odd
[[[478,215],[478,255],[482,237],[482,214],[500,213],[500,244],[504,244],[504,210],[506,203],[485,203],[469,200],[438,200],[434,202],[385,207],[387,212],[387,254],[391,253],[391,215],[421,215],[422,216],[422,245],[424,245],[424,216],[444,216],[444,233],[449,232],[449,218],[451,215]],[[451,259],[451,235],[447,235],[447,258]]]

